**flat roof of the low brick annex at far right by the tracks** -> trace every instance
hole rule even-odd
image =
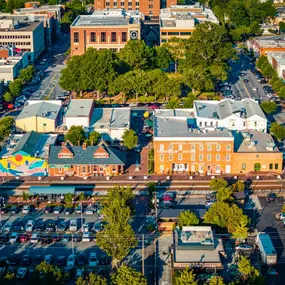
[[[268,133],[246,130],[233,132],[235,152],[280,152]]]

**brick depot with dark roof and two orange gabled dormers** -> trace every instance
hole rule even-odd
[[[125,152],[101,141],[97,146],[51,146],[48,159],[50,176],[112,176],[124,172]]]

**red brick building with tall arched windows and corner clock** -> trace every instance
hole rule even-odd
[[[70,27],[71,55],[84,54],[89,47],[116,52],[129,40],[141,39],[142,17],[122,9],[79,15]]]

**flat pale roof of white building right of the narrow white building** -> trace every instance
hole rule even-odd
[[[90,128],[119,129],[130,127],[130,108],[96,108],[94,109]]]

